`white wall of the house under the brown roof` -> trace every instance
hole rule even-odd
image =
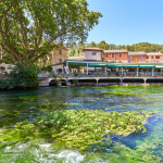
[[[96,55],[92,55],[92,51],[84,51],[84,60],[101,61],[101,51],[96,51]]]

